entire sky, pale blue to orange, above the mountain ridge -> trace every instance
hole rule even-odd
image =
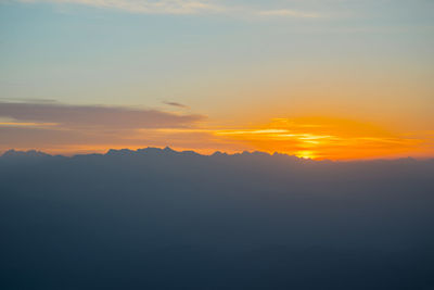
[[[431,0],[0,0],[0,152],[434,156]]]

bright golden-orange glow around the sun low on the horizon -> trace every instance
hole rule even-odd
[[[432,152],[424,139],[343,118],[276,118],[259,127],[218,130],[215,135],[248,143],[257,150],[314,160],[396,157]]]

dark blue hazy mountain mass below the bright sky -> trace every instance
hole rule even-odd
[[[0,289],[434,289],[434,161],[0,157]]]

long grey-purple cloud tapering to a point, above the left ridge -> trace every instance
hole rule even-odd
[[[65,127],[176,128],[204,118],[157,110],[60,103],[0,102],[0,117],[20,122],[56,123]]]

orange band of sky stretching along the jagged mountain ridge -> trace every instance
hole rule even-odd
[[[51,123],[1,123],[0,127],[55,127]],[[73,134],[74,129],[58,130]],[[93,138],[93,140],[92,140]],[[210,127],[199,123],[182,128],[139,128],[133,130],[88,133],[88,139],[72,142],[30,141],[17,149],[39,149],[50,153],[105,152],[170,146],[210,154],[225,152],[280,152],[315,160],[361,160],[434,156],[434,131],[394,131],[375,124],[336,117],[275,118],[268,124],[245,127]],[[36,144],[36,146],[34,146]],[[3,148],[7,150],[9,148]]]

